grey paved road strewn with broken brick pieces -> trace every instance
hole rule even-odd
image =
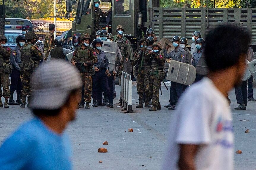
[[[167,143],[168,123],[173,111],[162,107],[162,111],[150,112],[148,108],[136,109],[138,101],[136,87],[133,86],[133,110],[127,114],[120,108],[92,107],[90,110],[79,109],[77,120],[67,129],[72,140],[74,169],[160,169]],[[119,93],[120,87],[116,86]],[[169,100],[169,91],[162,87],[161,104]],[[256,92],[256,90],[254,89]],[[256,93],[255,93],[256,97]],[[236,98],[234,90],[230,92],[235,131],[236,170],[256,169],[256,102],[249,102],[246,111],[235,111]],[[3,99],[2,99],[3,101]],[[115,100],[114,102],[117,102]],[[31,118],[29,109],[10,106],[0,108],[0,143],[23,121]],[[249,121],[240,121],[249,120]],[[134,131],[128,132],[128,128]],[[250,129],[246,134],[245,130]],[[102,145],[107,140],[109,145]],[[100,147],[108,153],[98,153]],[[150,156],[152,158],[150,158]],[[98,163],[102,160],[103,163]],[[144,166],[142,166],[144,165]]]

